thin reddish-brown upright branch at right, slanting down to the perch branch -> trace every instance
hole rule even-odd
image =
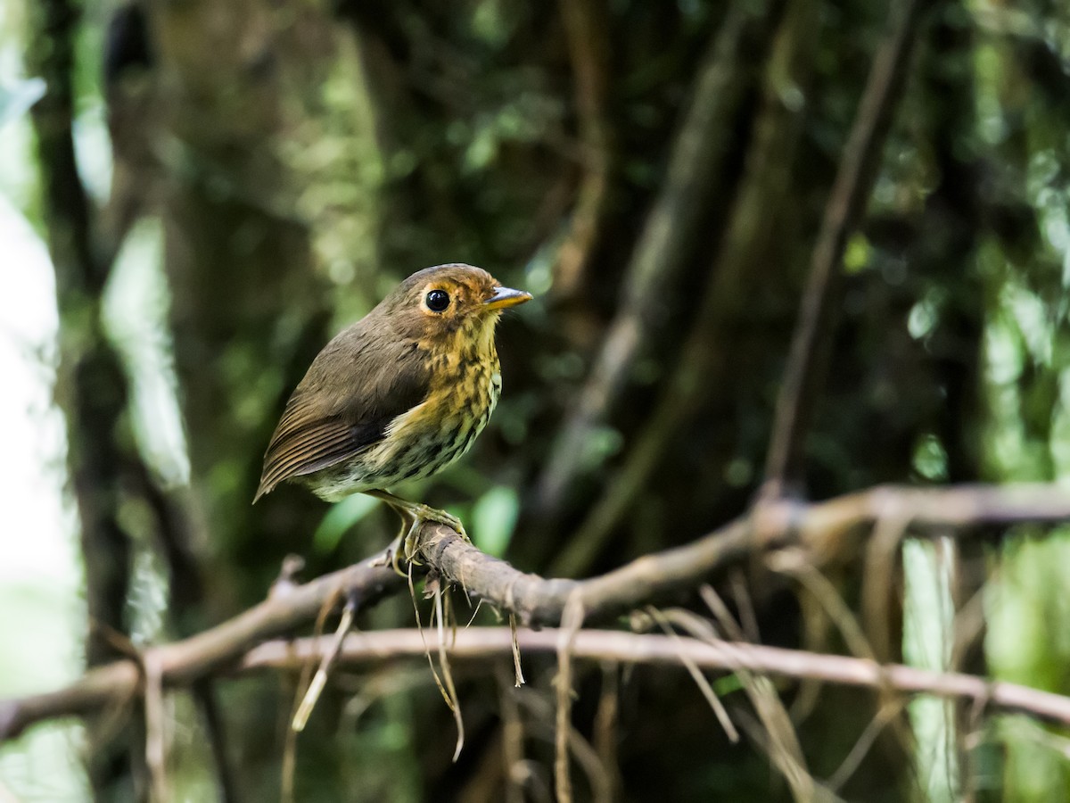
[[[831,348],[843,248],[865,212],[881,164],[891,112],[905,82],[920,5],[920,0],[902,0],[892,7],[889,33],[873,58],[825,207],[777,399],[765,461],[763,494],[769,496],[782,495],[785,484],[798,479],[802,440],[824,383],[824,366]]]

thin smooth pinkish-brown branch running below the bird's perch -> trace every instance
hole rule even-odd
[[[547,628],[519,634],[525,654],[555,653],[561,631]],[[330,647],[327,638],[271,641],[254,648],[242,660],[239,671],[297,669],[320,657]],[[508,627],[469,627],[448,647],[454,661],[507,657],[511,650]],[[622,664],[683,666],[686,660],[703,669],[750,671],[762,676],[817,680],[849,686],[895,690],[905,694],[966,697],[981,704],[1022,711],[1070,725],[1070,697],[1030,688],[1018,683],[990,681],[961,672],[939,672],[902,664],[877,664],[867,658],[826,655],[742,641],[703,641],[686,636],[636,634],[621,631],[579,631],[571,637],[575,658],[613,661]],[[351,633],[338,660],[366,664],[399,657],[423,657],[424,645],[415,628]]]

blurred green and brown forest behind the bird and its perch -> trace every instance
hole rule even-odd
[[[1063,702],[814,669],[1070,694],[1064,4],[0,15],[0,695],[87,662],[144,677],[32,727],[0,706],[0,799],[1070,800]],[[582,631],[547,650],[522,627],[520,688],[508,639],[452,662],[456,762],[419,650],[354,647],[296,739],[301,671],[232,677],[244,645],[154,685],[151,646],[393,535],[364,497],[249,502],[317,350],[446,261],[537,300],[499,330],[488,430],[407,495],[544,577],[715,545],[584,626],[761,642],[801,669],[738,652],[704,685],[678,656],[571,662]],[[501,632],[489,607],[472,627]],[[356,612],[371,635],[413,620],[403,590]]]

